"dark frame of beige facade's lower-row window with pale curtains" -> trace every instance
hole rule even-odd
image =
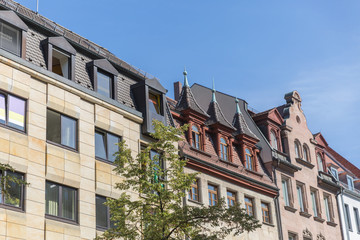
[[[48,214],[46,213],[46,183],[51,183],[51,184],[55,184],[55,185],[58,185],[59,187],[59,199],[58,199],[58,203],[59,203],[59,206],[58,206],[58,215],[59,216],[56,216],[56,215],[51,215],[51,214]],[[67,188],[72,188],[75,190],[75,206],[74,206],[74,209],[75,209],[75,220],[72,220],[72,219],[69,219],[69,218],[65,218],[62,215],[62,208],[63,208],[63,204],[62,204],[62,188],[63,187],[67,187]],[[54,220],[59,220],[59,221],[62,221],[62,222],[67,222],[67,223],[75,223],[75,224],[78,224],[79,223],[79,190],[77,188],[74,188],[74,187],[70,187],[70,186],[67,186],[67,185],[63,185],[63,184],[59,184],[59,183],[56,183],[56,182],[53,182],[53,181],[48,181],[46,180],[45,181],[45,217],[46,218],[49,218],[49,219],[54,219]]]

